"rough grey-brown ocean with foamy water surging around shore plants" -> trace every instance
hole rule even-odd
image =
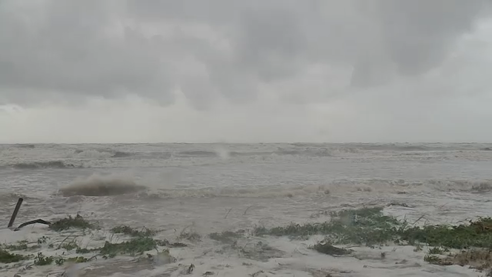
[[[466,266],[425,262],[426,251],[410,245],[345,245],[355,254],[338,257],[311,249],[322,236],[255,236],[250,230],[324,222],[331,212],[365,207],[418,224],[490,216],[491,150],[492,143],[3,144],[0,242],[43,238],[14,252],[77,256],[56,245],[121,242],[109,231],[120,225],[159,230],[156,238],[186,246],[84,263],[0,263],[0,275],[484,276]],[[99,229],[7,229],[19,197],[24,203],[14,226],[80,214]],[[236,235],[210,236],[227,231]]]

